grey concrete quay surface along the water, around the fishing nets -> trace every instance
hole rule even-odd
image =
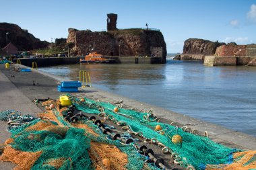
[[[0,112],[18,110],[23,114],[36,116],[36,113],[42,112],[42,110],[34,105],[32,102],[33,99],[47,97],[57,99],[59,95],[63,94],[57,91],[57,84],[61,81],[68,81],[67,79],[42,73],[36,69],[32,69],[32,72],[17,72],[13,71],[14,67],[28,68],[23,65],[11,65],[10,69],[5,69],[4,65],[0,65]],[[33,81],[35,85],[33,85]],[[99,99],[100,101],[106,102],[115,102],[122,99],[123,104],[127,108],[136,108],[137,110],[150,110],[152,108],[161,122],[176,122],[174,124],[177,124],[179,127],[188,126],[192,129],[199,130],[200,134],[207,131],[213,141],[225,146],[244,150],[256,150],[256,138],[253,136],[229,130],[209,122],[203,122],[183,114],[164,110],[155,105],[149,105],[134,99],[101,91],[94,87],[79,88],[79,92],[71,94],[83,95],[90,99]],[[10,136],[6,128],[6,122],[1,121],[0,142],[2,143]],[[12,163],[0,163],[0,169],[11,169],[14,166]]]

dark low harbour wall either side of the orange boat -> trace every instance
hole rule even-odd
[[[80,58],[84,57],[51,57],[51,58],[19,58],[20,64],[27,67],[32,67],[32,62],[36,62],[38,67],[50,67],[54,65],[72,65],[78,64]],[[160,64],[164,63],[162,57],[135,57],[135,56],[121,56],[121,57],[105,57],[114,59],[116,63],[121,64]],[[17,60],[13,60],[18,62]]]

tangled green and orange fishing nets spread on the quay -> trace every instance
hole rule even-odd
[[[101,116],[102,120],[128,129],[128,136],[133,134],[133,137],[164,144],[172,154],[177,155],[176,160],[182,167],[256,169],[256,151],[241,152],[170,124],[157,122],[152,112],[129,110],[121,108],[121,105],[115,112],[117,105],[112,103],[85,97],[81,102],[77,97],[68,96],[76,110]],[[51,109],[51,104],[56,107]],[[59,101],[49,100],[42,105],[46,112],[38,114],[40,119],[30,119],[10,130],[11,138],[0,147],[3,153],[1,161],[16,163],[15,169],[158,169],[146,163],[148,158],[139,154],[133,144],[112,140],[88,118],[79,118],[76,123],[68,122],[64,118],[68,110],[59,108]],[[9,121],[16,114],[20,116],[15,111],[0,112],[0,119]],[[161,126],[162,130],[156,130],[156,126]],[[177,134],[182,141],[175,143],[172,137]]]

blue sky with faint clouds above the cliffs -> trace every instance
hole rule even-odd
[[[17,24],[36,38],[67,38],[68,28],[106,30],[106,14],[117,28],[160,29],[168,53],[183,52],[188,38],[256,44],[256,0],[0,0],[0,22]]]

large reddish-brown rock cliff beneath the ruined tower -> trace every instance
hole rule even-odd
[[[150,56],[150,48],[161,47],[166,58],[166,43],[160,31],[128,29],[108,32],[77,31],[69,29],[67,42],[75,42],[73,52],[85,55],[97,51],[106,56]]]

